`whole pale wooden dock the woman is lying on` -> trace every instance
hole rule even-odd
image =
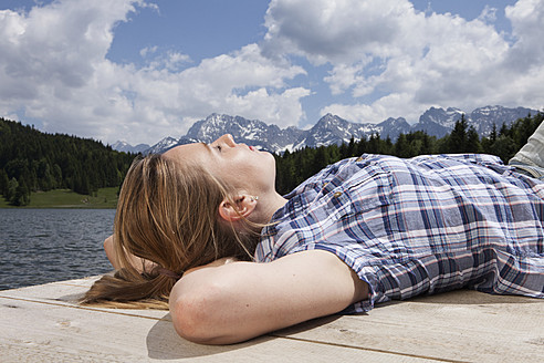
[[[0,291],[0,362],[544,362],[544,300],[463,290],[207,346],[167,311],[79,307],[94,279]]]

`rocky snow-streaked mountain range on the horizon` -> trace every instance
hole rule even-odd
[[[117,142],[112,148],[129,153],[164,153],[167,149],[189,143],[211,143],[223,134],[231,134],[237,143],[244,143],[260,149],[282,153],[303,147],[318,147],[331,144],[348,143],[349,139],[369,137],[379,134],[380,137],[390,137],[395,141],[399,134],[414,131],[425,131],[427,134],[443,137],[449,134],[456,122],[464,117],[469,126],[473,126],[480,136],[488,136],[493,125],[500,128],[503,124],[510,125],[517,118],[538,113],[536,110],[503,106],[485,106],[465,113],[459,108],[448,107],[427,110],[419,122],[410,125],[404,117],[389,117],[378,124],[354,123],[339,116],[326,114],[312,128],[300,129],[291,126],[280,128],[276,125],[268,125],[259,120],[247,120],[240,116],[211,114],[205,120],[196,122],[185,136],[179,138],[167,136],[157,144],[137,146]]]

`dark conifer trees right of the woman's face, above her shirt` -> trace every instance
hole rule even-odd
[[[379,134],[355,139],[342,145],[305,147],[293,153],[274,155],[276,159],[276,190],[286,194],[299,184],[320,172],[325,166],[341,159],[362,154],[387,154],[412,157],[428,154],[483,153],[501,157],[504,163],[527,142],[544,120],[544,113],[519,118],[511,125],[493,126],[487,137],[480,137],[473,126],[469,126],[464,115],[456,122],[452,132],[444,137],[429,136],[422,131],[400,134],[394,143]]]

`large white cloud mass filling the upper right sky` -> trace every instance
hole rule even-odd
[[[415,122],[432,105],[542,108],[544,1],[506,8],[513,43],[494,29],[495,14],[485,7],[467,21],[417,12],[407,0],[273,0],[263,49],[328,64],[324,81],[347,101],[323,112],[355,121]]]

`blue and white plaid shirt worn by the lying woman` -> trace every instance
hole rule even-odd
[[[291,194],[261,234],[257,261],[327,250],[374,303],[462,287],[544,298],[544,183],[491,155],[363,155]]]

